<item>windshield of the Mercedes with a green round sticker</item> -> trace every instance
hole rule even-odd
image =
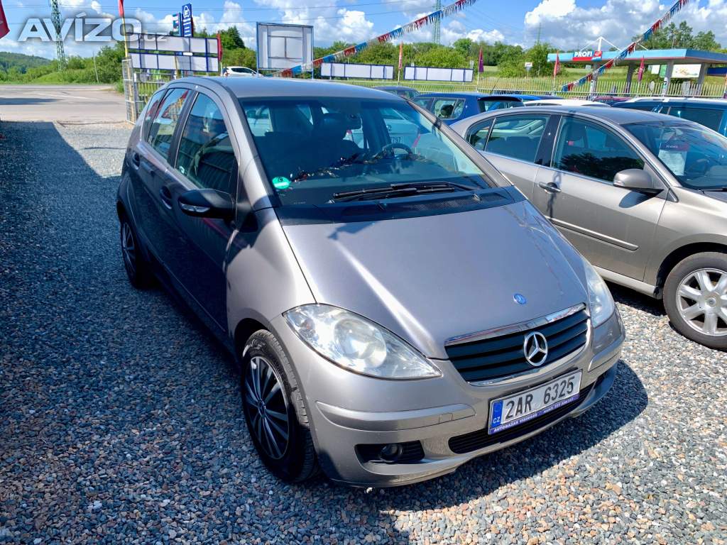
[[[281,203],[321,205],[342,194],[399,196],[401,185],[430,191],[494,187],[483,171],[406,102],[294,97],[241,100],[268,179]],[[385,195],[382,197],[382,195]]]

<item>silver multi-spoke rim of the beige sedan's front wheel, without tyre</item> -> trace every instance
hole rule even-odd
[[[686,275],[676,294],[677,309],[691,328],[704,335],[727,335],[727,273],[699,269]]]

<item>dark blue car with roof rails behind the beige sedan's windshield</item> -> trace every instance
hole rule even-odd
[[[618,108],[666,113],[695,121],[727,136],[727,100],[710,98],[641,97],[619,102]]]

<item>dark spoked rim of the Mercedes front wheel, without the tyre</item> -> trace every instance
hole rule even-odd
[[[270,458],[281,459],[288,449],[290,425],[280,376],[268,360],[254,356],[247,367],[244,389],[244,403],[257,442]]]

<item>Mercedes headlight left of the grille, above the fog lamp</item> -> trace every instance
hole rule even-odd
[[[381,326],[326,304],[284,313],[313,350],[342,368],[382,379],[425,379],[441,373],[424,356]]]

